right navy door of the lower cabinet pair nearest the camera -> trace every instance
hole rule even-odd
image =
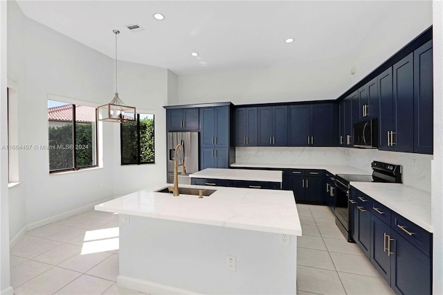
[[[392,231],[390,287],[396,294],[431,294],[431,258]]]

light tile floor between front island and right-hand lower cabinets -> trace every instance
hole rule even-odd
[[[327,206],[297,204],[297,291],[306,294],[394,294],[359,246],[348,243]]]

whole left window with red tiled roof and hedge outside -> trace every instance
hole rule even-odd
[[[49,172],[97,166],[96,108],[48,100]]]

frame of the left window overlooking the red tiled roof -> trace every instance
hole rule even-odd
[[[55,100],[55,99],[50,99],[48,98],[48,100],[52,100],[52,101],[57,101],[57,102],[64,102],[63,100]],[[49,174],[54,174],[54,173],[59,173],[59,172],[72,172],[72,171],[79,171],[79,170],[87,170],[87,169],[91,169],[91,168],[97,168],[98,167],[98,117],[97,117],[97,107],[93,107],[95,109],[94,114],[96,116],[96,132],[95,132],[95,151],[96,151],[96,164],[95,165],[91,165],[91,166],[84,166],[84,167],[77,167],[77,153],[75,152],[75,142],[77,141],[77,128],[75,128],[75,119],[76,119],[76,114],[75,114],[75,106],[76,105],[82,105],[80,103],[75,104],[72,102],[65,102],[66,104],[69,104],[72,106],[72,111],[73,111],[73,115],[72,115],[72,137],[73,137],[73,168],[66,168],[66,169],[57,169],[57,170],[49,170]],[[82,105],[85,107],[91,107],[89,105]],[[48,120],[49,122],[49,120]],[[48,125],[49,127],[49,125]],[[49,144],[49,132],[48,132],[48,144]],[[49,156],[49,150],[48,150],[48,156]],[[49,162],[48,162],[49,165]]]

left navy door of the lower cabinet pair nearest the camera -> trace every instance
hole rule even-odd
[[[388,284],[390,283],[390,256],[392,255],[389,247],[392,244],[390,231],[388,224],[371,215],[370,261]]]

